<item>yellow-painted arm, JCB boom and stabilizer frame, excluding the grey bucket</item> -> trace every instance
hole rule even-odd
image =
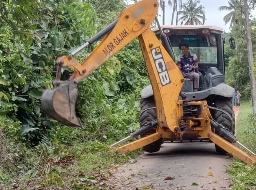
[[[176,135],[182,138],[185,133],[197,132],[198,138],[208,138],[246,163],[255,163],[255,156],[249,156],[214,133],[210,126],[212,117],[206,101],[178,100],[184,82],[183,76],[174,60],[149,28],[157,15],[158,7],[157,0],[141,0],[129,6],[119,14],[119,20],[113,30],[104,36],[99,45],[82,63],[79,63],[72,55],[61,56],[57,61],[63,63],[61,66],[73,69],[74,72],[69,80],[80,81],[102,65],[110,56],[138,37],[154,91],[158,126],[156,133],[121,147],[114,147],[115,150],[125,153],[148,145],[161,137],[168,138]],[[201,114],[197,117],[187,119],[186,123],[192,130],[187,132],[179,129],[184,103],[200,105],[202,108]],[[201,125],[192,127],[196,123],[201,123]]]

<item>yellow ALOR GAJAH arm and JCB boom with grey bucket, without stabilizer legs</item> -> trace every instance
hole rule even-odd
[[[55,87],[53,90],[45,90],[42,94],[43,110],[65,125],[82,127],[80,119],[75,115],[75,102],[78,96],[77,83],[138,37],[155,97],[158,100],[157,109],[159,111],[157,112],[159,121],[161,121],[159,123],[162,126],[177,127],[176,103],[169,100],[170,98],[174,101],[178,100],[183,85],[183,76],[150,29],[158,6],[157,0],[142,0],[124,9],[102,34],[95,37],[97,40],[106,33],[99,45],[82,63],[74,57],[74,54],[82,49],[81,47],[70,55],[57,58],[57,76],[53,82]],[[82,47],[84,46],[86,45]],[[63,66],[68,66],[74,71],[68,81],[60,81],[60,71]],[[172,91],[172,97],[166,96],[170,91]],[[162,110],[164,113],[172,113],[172,117],[163,114]]]

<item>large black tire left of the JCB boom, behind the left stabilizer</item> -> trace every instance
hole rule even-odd
[[[146,110],[148,109],[148,110]],[[143,112],[143,110],[146,110]],[[154,121],[156,119],[156,110],[155,110],[155,100],[154,96],[150,96],[148,98],[141,100],[141,115],[140,115],[140,123],[142,125],[146,125],[148,122]],[[150,134],[154,134],[156,132],[156,128],[149,130],[148,132],[141,134],[141,137],[148,136]],[[163,138],[160,138],[153,143],[150,143],[142,149],[146,152],[157,152],[160,150],[161,144],[163,144]]]

